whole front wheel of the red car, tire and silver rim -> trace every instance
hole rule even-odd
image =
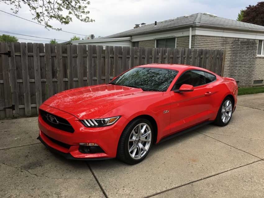
[[[153,142],[153,127],[147,119],[129,123],[119,140],[117,156],[127,164],[137,164],[145,159]]]

